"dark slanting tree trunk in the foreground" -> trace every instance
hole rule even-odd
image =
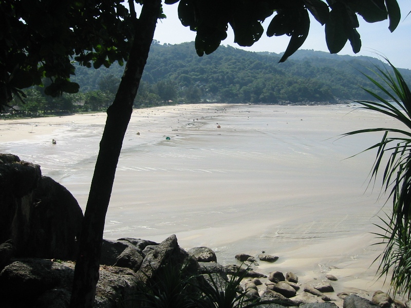
[[[133,112],[133,102],[153,41],[160,7],[161,0],[144,1],[137,21],[132,50],[116,98],[107,109],[106,125],[84,213],[70,308],[94,305],[108,203],[125,131]]]

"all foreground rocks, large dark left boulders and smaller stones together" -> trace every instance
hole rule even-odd
[[[76,199],[42,176],[40,166],[0,154],[0,213],[1,306],[68,307],[83,219]],[[161,280],[167,265],[184,264],[192,275],[210,283],[210,279],[218,281],[222,292],[230,275],[240,275],[244,280],[239,292],[284,306],[332,308],[336,307],[332,301],[340,298],[344,308],[405,308],[381,291],[372,301],[355,294],[337,294],[335,298],[328,281],[337,278],[331,275],[328,281],[308,285],[291,272],[266,275],[254,271],[257,259],[275,262],[277,256],[239,254],[236,259],[240,265],[221,265],[208,247],[185,251],[175,235],[161,243],[134,238],[103,240],[95,307],[133,306],[141,283]]]

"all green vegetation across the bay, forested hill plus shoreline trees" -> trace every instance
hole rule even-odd
[[[221,102],[261,104],[338,103],[371,99],[359,85],[372,83],[360,71],[382,63],[372,57],[299,50],[287,62],[281,55],[221,46],[207,58],[191,52],[193,43],[161,45],[154,42],[134,101],[134,107]],[[402,69],[411,81],[411,70]],[[104,111],[113,102],[123,67],[89,70],[78,66],[72,78],[79,93],[46,95],[43,87],[24,90],[11,113],[26,116]],[[46,83],[46,81],[44,81]],[[383,93],[379,93],[383,95]]]

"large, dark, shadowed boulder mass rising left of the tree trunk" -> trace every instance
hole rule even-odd
[[[15,257],[72,260],[82,210],[39,165],[0,154],[0,243],[13,240]]]

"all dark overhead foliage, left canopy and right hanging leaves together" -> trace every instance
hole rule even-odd
[[[147,1],[147,0],[146,0]],[[373,23],[389,18],[389,30],[400,21],[396,0],[165,0],[178,4],[183,26],[196,31],[197,54],[210,54],[227,38],[228,26],[234,42],[251,46],[264,34],[262,22],[271,17],[266,34],[288,35],[289,45],[280,62],[302,46],[310,28],[309,13],[325,25],[331,53],[347,41],[352,50],[361,48],[357,15]],[[130,10],[126,9],[127,3]],[[57,97],[76,93],[70,81],[73,61],[82,66],[109,67],[127,61],[133,33],[141,27],[135,4],[142,0],[0,0],[0,107],[13,96],[24,97],[23,88],[51,84],[45,93]],[[158,18],[164,15],[161,10]]]

